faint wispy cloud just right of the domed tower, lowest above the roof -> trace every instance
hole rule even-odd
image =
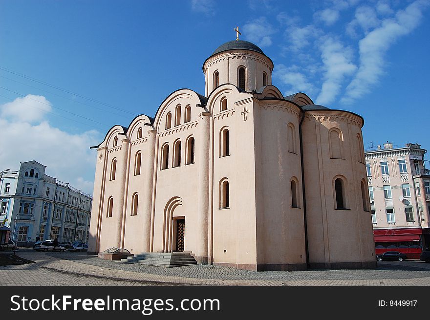
[[[314,85],[306,79],[306,76],[301,72],[301,68],[297,65],[287,67],[280,64],[274,71],[274,76],[279,79],[283,85],[288,86],[284,95],[290,95],[296,92],[312,94],[315,91]]]

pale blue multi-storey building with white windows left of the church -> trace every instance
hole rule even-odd
[[[0,227],[12,229],[18,245],[58,238],[88,241],[92,197],[45,174],[37,161],[0,176]]]

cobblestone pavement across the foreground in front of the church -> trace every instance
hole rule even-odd
[[[420,261],[380,262],[374,270],[253,272],[125,264],[83,253],[19,255],[36,263],[0,266],[0,285],[430,285],[430,264]]]

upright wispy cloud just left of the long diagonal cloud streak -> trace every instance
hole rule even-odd
[[[316,101],[331,104],[340,93],[346,76],[352,75],[357,66],[352,61],[352,50],[330,37],[320,44],[323,60],[324,82]]]

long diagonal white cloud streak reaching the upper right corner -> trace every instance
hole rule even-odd
[[[401,36],[407,35],[420,23],[422,10],[429,1],[417,0],[405,10],[399,10],[394,19],[382,21],[382,25],[369,32],[359,43],[360,67],[354,79],[346,87],[343,103],[352,103],[370,91],[383,74],[384,55]]]

